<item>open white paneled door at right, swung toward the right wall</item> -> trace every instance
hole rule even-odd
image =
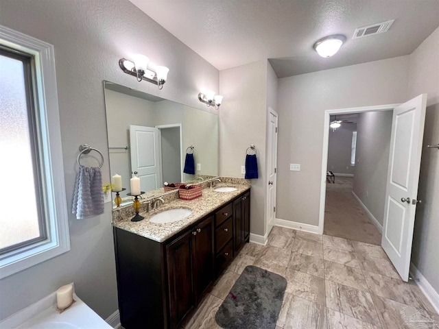
[[[426,101],[427,94],[419,95],[393,110],[381,245],[404,281],[412,254]]]

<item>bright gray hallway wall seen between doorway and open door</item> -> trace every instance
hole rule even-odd
[[[353,191],[383,225],[392,113],[360,113]]]

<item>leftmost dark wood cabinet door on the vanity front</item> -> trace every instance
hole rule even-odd
[[[169,293],[169,322],[177,328],[195,307],[192,279],[192,236],[189,231],[166,246]]]

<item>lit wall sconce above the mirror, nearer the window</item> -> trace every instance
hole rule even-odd
[[[126,58],[121,58],[119,60],[119,66],[123,72],[136,77],[138,82],[145,80],[156,84],[158,89],[162,89],[163,84],[166,82],[169,69],[166,66],[155,66],[153,70],[151,67],[147,67],[149,62],[150,59],[146,56],[136,55],[134,56],[134,62]]]

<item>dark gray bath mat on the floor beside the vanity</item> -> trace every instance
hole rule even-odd
[[[276,328],[285,289],[283,276],[250,265],[219,306],[215,320],[225,329]]]

